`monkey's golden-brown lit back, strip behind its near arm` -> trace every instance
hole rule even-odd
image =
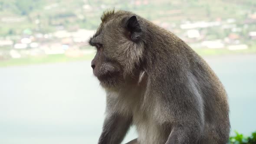
[[[207,62],[193,49],[186,46],[184,51],[187,54],[191,76],[203,99],[205,124],[199,143],[211,144],[217,141],[218,144],[224,144],[229,138],[230,121],[228,99],[223,84]]]

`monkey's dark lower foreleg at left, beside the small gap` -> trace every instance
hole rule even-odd
[[[130,128],[132,118],[111,114],[105,118],[98,144],[120,144]]]

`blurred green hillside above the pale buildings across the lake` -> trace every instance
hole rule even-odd
[[[146,0],[147,2],[147,0]],[[130,10],[153,21],[179,24],[190,20],[243,20],[256,9],[255,0],[0,0],[0,35],[26,28],[51,32],[56,26],[95,29],[107,8]],[[6,20],[20,18],[19,22]],[[5,21],[3,21],[5,20]],[[36,23],[39,20],[39,23]]]

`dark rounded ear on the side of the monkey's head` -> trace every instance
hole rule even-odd
[[[142,30],[141,30],[141,26],[138,23],[136,16],[131,16],[127,20],[126,29],[128,31],[128,33],[127,33],[128,39],[130,39],[132,41],[137,41],[138,39],[140,39]]]

